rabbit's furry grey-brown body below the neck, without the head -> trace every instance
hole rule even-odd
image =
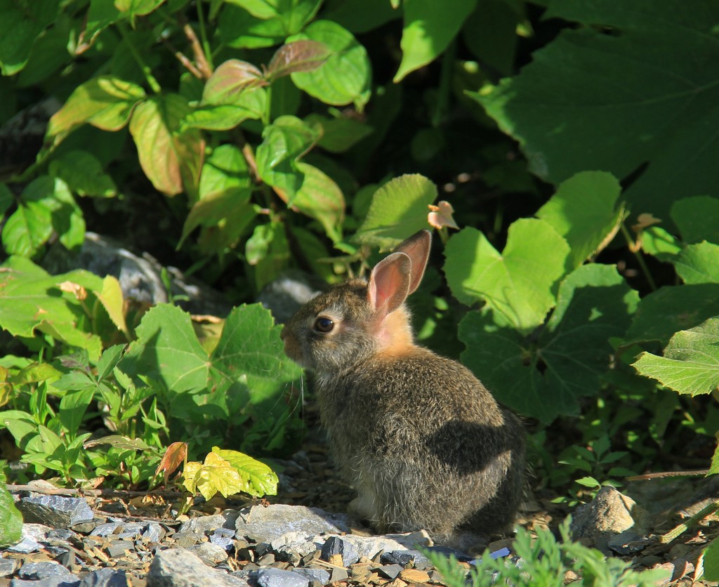
[[[319,381],[334,458],[375,524],[449,533],[502,529],[521,497],[523,429],[472,373],[415,346]]]

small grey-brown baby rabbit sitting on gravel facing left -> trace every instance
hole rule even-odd
[[[523,493],[524,431],[454,360],[417,345],[405,306],[431,235],[311,299],[285,325],[285,352],[314,373],[334,460],[359,493],[351,508],[380,532],[513,523]],[[461,532],[462,530],[460,530]]]

